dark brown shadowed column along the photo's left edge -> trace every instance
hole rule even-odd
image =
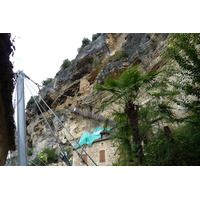
[[[13,71],[9,56],[12,52],[10,34],[0,34],[0,165],[4,165],[8,150],[15,149],[12,92]]]

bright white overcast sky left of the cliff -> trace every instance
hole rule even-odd
[[[84,37],[92,40],[93,32],[33,32],[11,33],[15,52],[11,56],[14,72],[22,70],[33,81],[42,85],[54,78],[65,59],[74,59]],[[25,87],[25,104],[31,94]]]

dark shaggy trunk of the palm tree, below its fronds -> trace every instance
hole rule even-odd
[[[135,105],[132,101],[128,101],[125,106],[125,113],[128,116],[129,123],[131,126],[133,143],[136,145],[136,150],[138,152],[138,158],[140,164],[143,161],[143,151],[141,145],[141,139],[139,135],[139,125],[138,125],[138,105]]]

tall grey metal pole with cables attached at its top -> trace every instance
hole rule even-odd
[[[24,73],[23,71],[18,71],[17,74],[18,74],[17,77],[18,165],[27,166]]]

